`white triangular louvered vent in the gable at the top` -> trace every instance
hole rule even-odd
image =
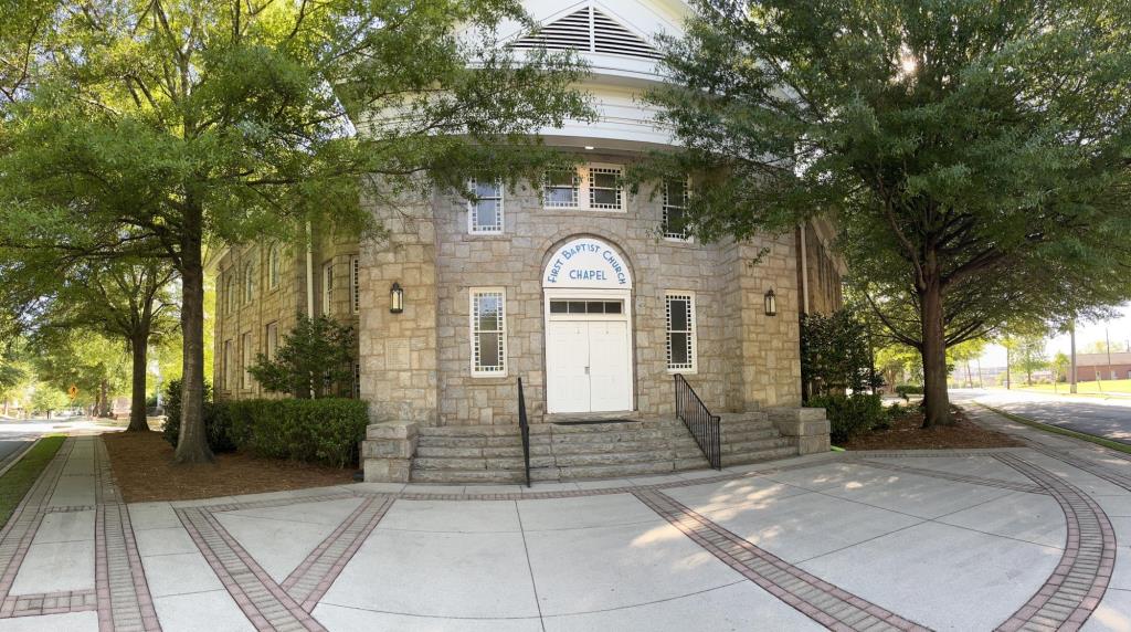
[[[537,32],[510,43],[512,49],[588,51],[646,59],[659,52],[639,35],[593,7],[586,7],[544,25]]]

